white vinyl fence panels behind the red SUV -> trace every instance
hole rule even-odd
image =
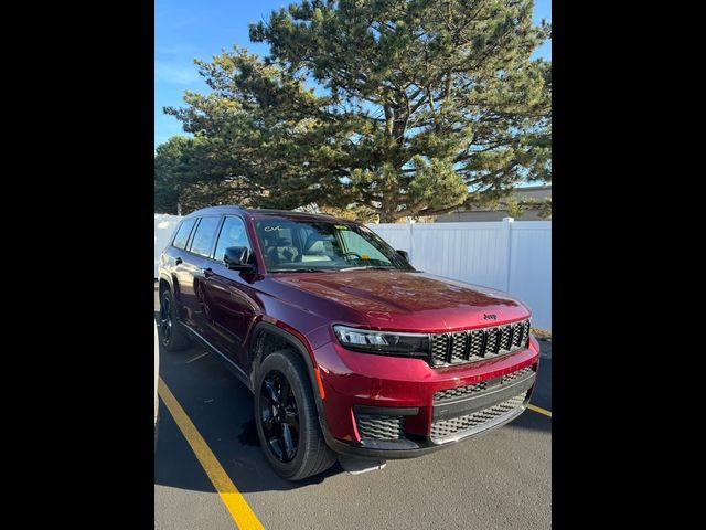
[[[159,255],[181,218],[154,214],[154,277]],[[552,221],[368,224],[426,273],[494,287],[520,297],[532,325],[552,329]]]

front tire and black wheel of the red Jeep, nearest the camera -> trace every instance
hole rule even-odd
[[[267,356],[257,371],[255,424],[265,458],[275,473],[302,480],[336,459],[323,439],[307,369],[292,350]]]

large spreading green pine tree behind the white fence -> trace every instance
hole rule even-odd
[[[550,33],[532,0],[302,1],[250,25],[264,60],[199,62],[169,108],[252,205],[442,213],[550,180]],[[310,86],[315,85],[315,88]]]

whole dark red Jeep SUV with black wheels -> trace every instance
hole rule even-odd
[[[526,306],[416,271],[344,219],[195,211],[161,255],[159,294],[162,346],[196,340],[224,361],[290,480],[339,455],[409,458],[488,432],[517,417],[535,384]]]

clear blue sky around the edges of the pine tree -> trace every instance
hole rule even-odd
[[[195,57],[210,60],[233,44],[266,55],[267,45],[252,43],[248,23],[264,20],[288,0],[154,0],[154,146],[183,134],[180,121],[162,112],[181,106],[185,89],[206,92]],[[552,0],[536,0],[535,20],[552,21]],[[552,57],[550,43],[537,55]]]

